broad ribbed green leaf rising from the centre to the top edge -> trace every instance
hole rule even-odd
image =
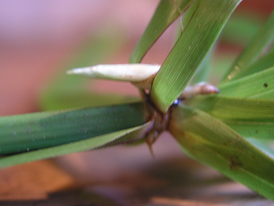
[[[184,91],[240,0],[201,1],[156,74],[151,98],[165,112]]]

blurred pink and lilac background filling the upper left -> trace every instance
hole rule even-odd
[[[120,27],[132,50],[157,3],[0,1],[0,115],[37,111],[43,85],[83,38],[103,27]],[[127,62],[130,50],[116,61]]]

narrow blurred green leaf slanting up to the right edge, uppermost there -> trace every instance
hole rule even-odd
[[[239,71],[249,68],[252,62],[255,62],[258,57],[264,52],[266,47],[272,43],[274,39],[274,11],[269,20],[260,28],[258,33],[251,39],[249,44],[236,59],[229,71],[223,76],[223,81],[228,81],[238,78]]]

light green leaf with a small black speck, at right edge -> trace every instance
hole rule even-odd
[[[218,86],[220,95],[274,99],[274,67]]]

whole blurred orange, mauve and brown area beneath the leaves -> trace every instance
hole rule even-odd
[[[153,144],[115,146],[0,170],[0,205],[261,206],[273,201],[184,155],[164,133]]]

